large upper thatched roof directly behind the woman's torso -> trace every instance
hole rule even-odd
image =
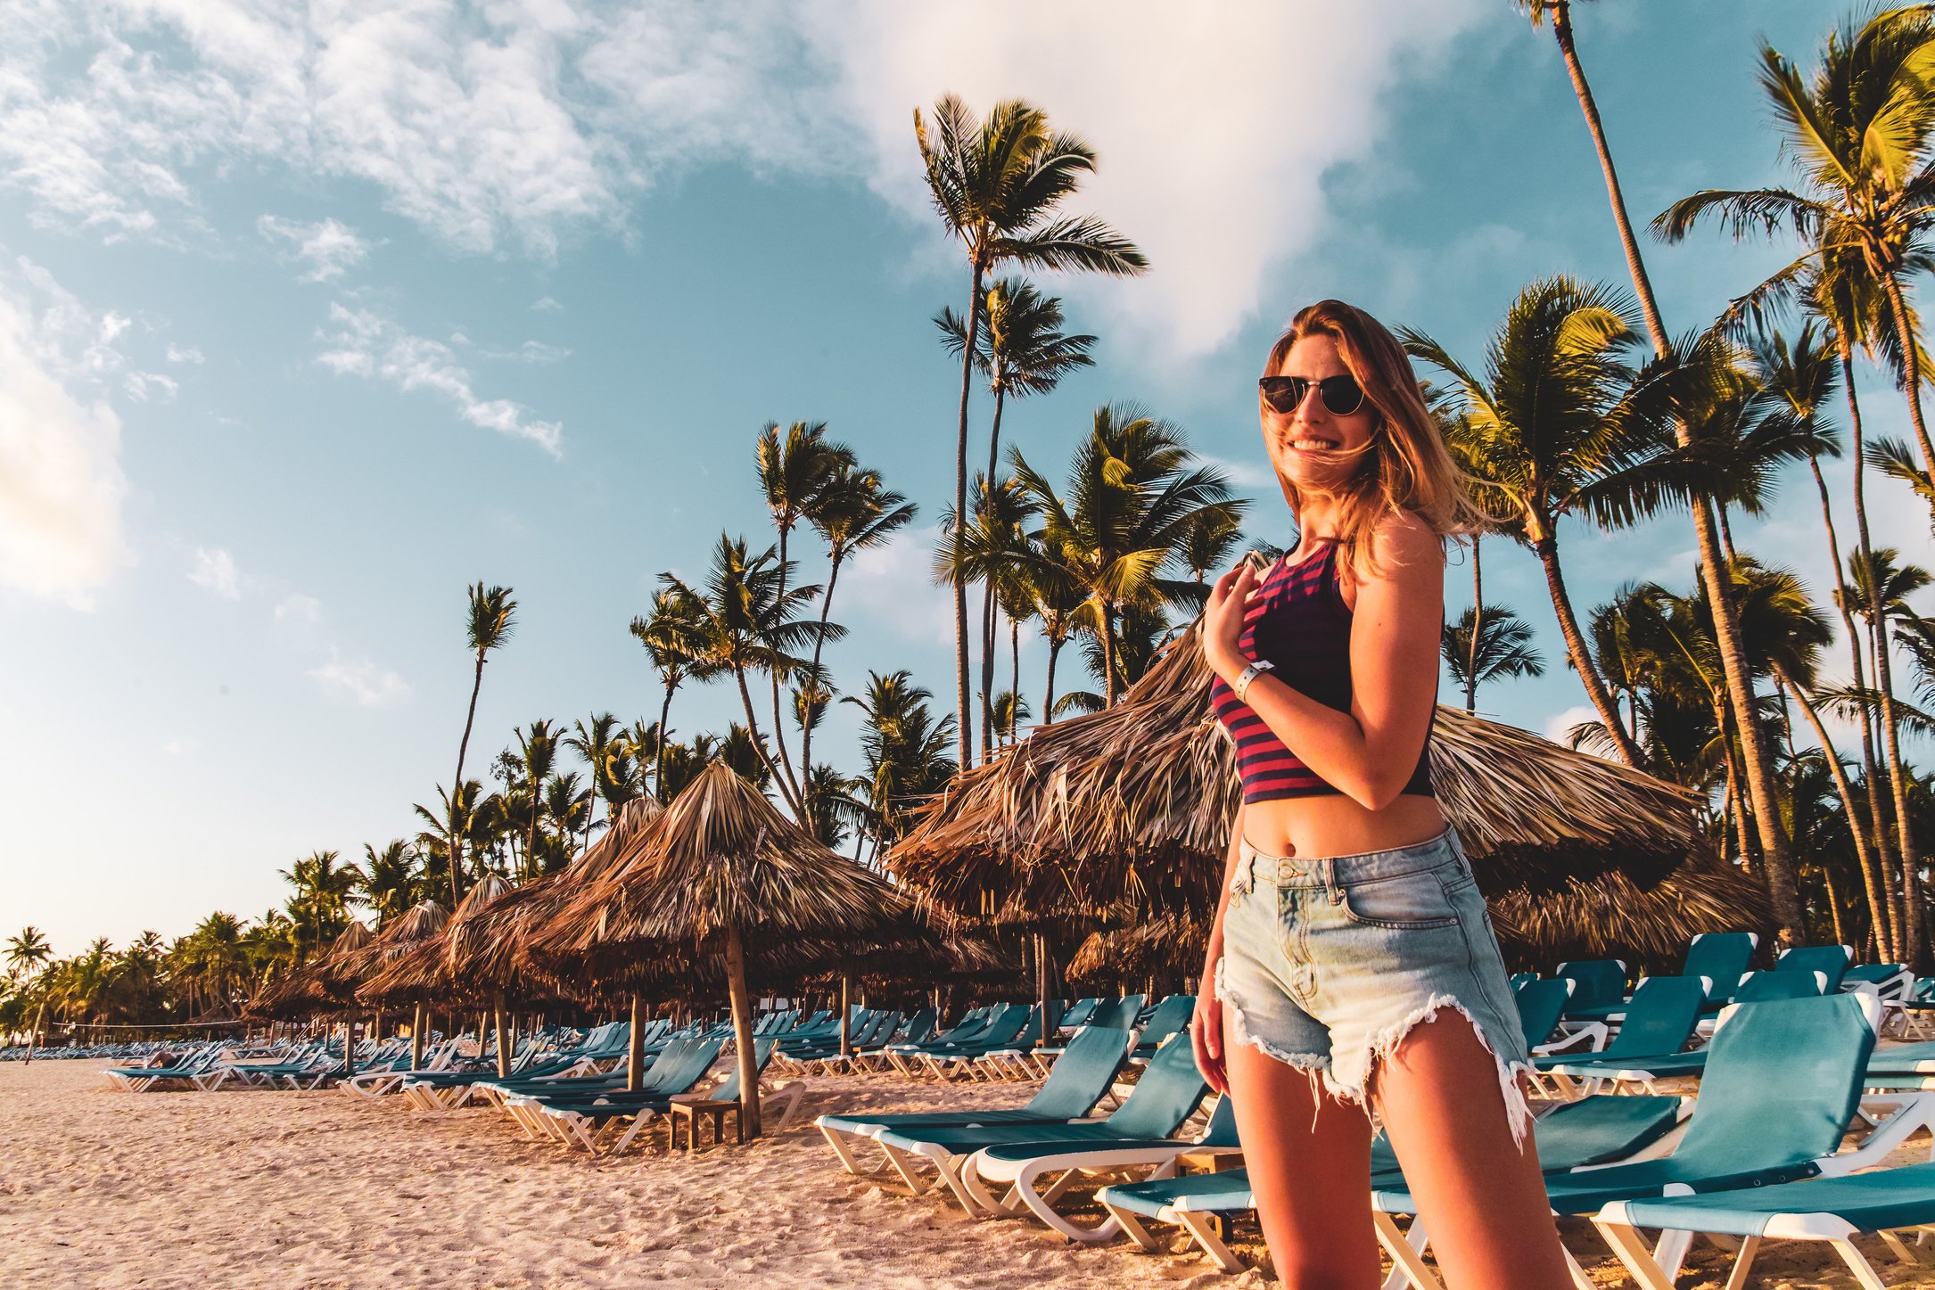
[[[1240,785],[1190,629],[1115,708],[1039,727],[969,768],[888,868],[938,907],[995,923],[1206,917]],[[1488,892],[1651,882],[1699,849],[1693,799],[1627,766],[1438,708],[1432,783]]]

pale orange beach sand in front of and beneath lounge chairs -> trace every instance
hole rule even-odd
[[[101,1062],[0,1066],[0,1286],[275,1290],[364,1286],[1134,1288],[1275,1284],[1200,1255],[1070,1246],[1031,1222],[975,1222],[940,1195],[844,1174],[811,1128],[822,1110],[1000,1106],[1026,1085],[809,1081],[799,1126],[747,1147],[592,1162],[526,1143],[495,1110],[443,1116],[397,1099],[149,1093],[104,1087]],[[1916,1143],[1912,1155],[1925,1158]],[[1906,1157],[1904,1157],[1906,1158]],[[1567,1228],[1575,1251],[1596,1240]],[[1256,1232],[1236,1249],[1260,1257]],[[1865,1242],[1890,1286],[1935,1286]],[[1606,1286],[1631,1284],[1608,1259]],[[1701,1247],[1682,1288],[1716,1290]],[[1854,1286],[1825,1249],[1771,1247],[1753,1284]]]

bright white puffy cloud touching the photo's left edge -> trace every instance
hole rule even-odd
[[[120,418],[101,385],[126,323],[95,317],[39,265],[17,269],[0,277],[0,586],[89,607],[134,561]]]

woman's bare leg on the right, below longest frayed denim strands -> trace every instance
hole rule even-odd
[[[1573,1284],[1531,1129],[1521,1151],[1498,1058],[1463,1013],[1445,1008],[1405,1035],[1378,1064],[1372,1097],[1449,1290]]]

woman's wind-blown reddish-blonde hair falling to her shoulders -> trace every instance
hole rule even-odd
[[[1418,377],[1397,337],[1356,306],[1320,300],[1298,309],[1269,346],[1265,371],[1281,371],[1291,346],[1306,337],[1337,342],[1345,369],[1378,412],[1378,427],[1362,449],[1358,468],[1337,487],[1337,542],[1356,559],[1368,559],[1372,532],[1399,511],[1418,516],[1440,542],[1482,528],[1484,513],[1424,406]],[[1291,511],[1298,513],[1296,485],[1281,474],[1277,482]]]

